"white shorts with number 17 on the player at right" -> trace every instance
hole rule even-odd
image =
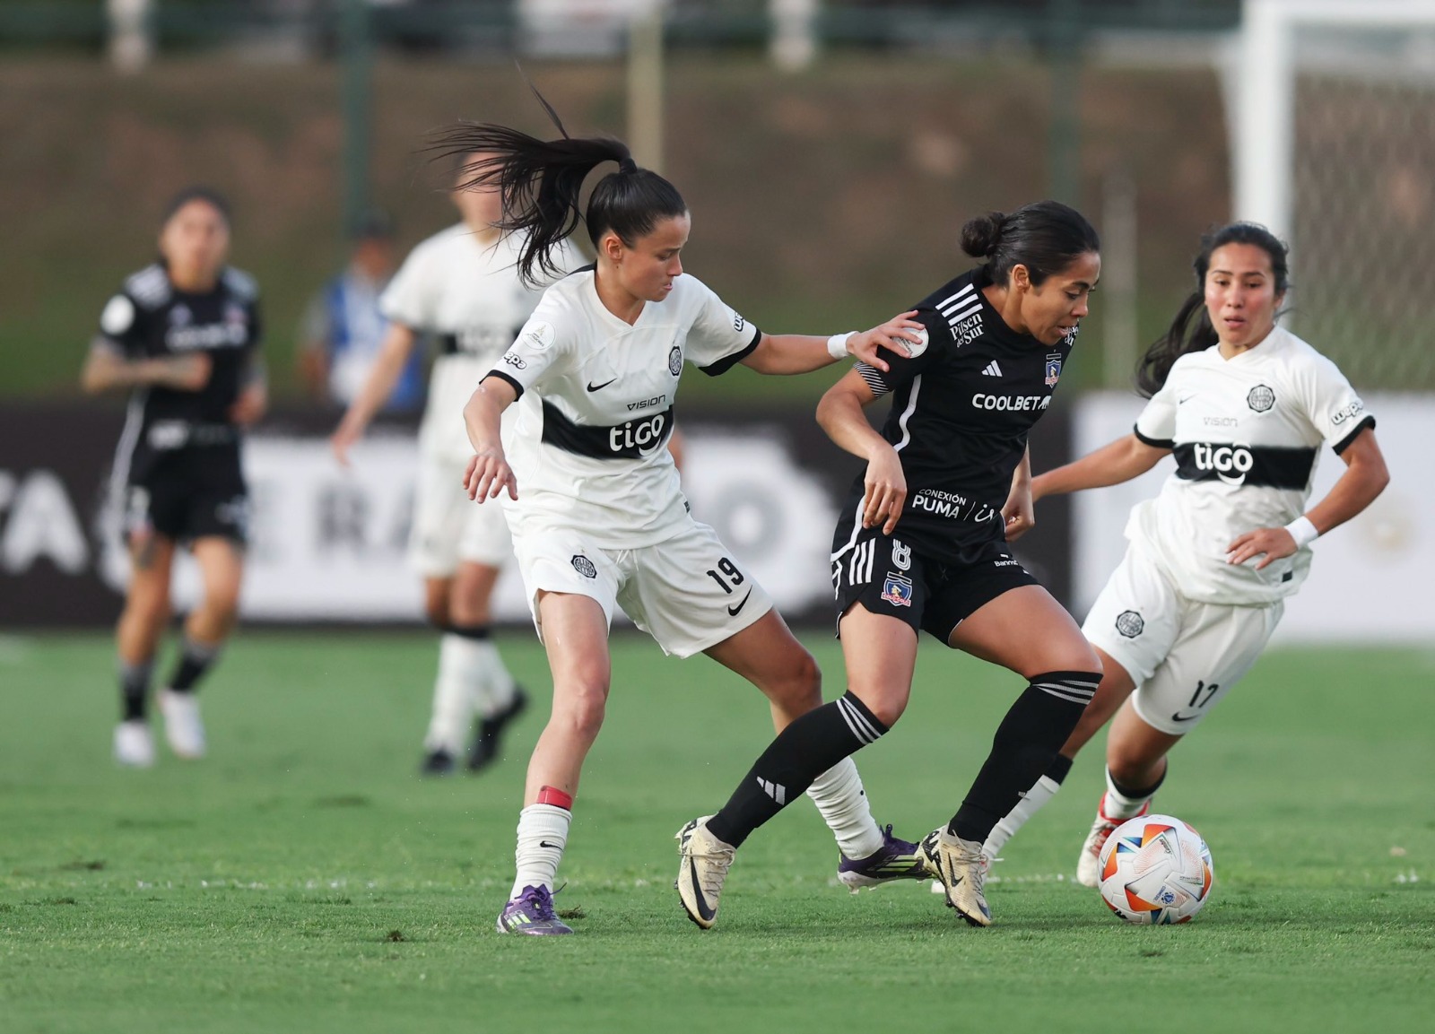
[[[1128,546],[1082,634],[1131,675],[1131,704],[1141,720],[1184,736],[1251,670],[1284,610],[1281,601],[1231,607],[1187,599],[1142,551]]]

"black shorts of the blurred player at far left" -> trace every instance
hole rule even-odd
[[[238,449],[182,449],[136,465],[125,488],[125,535],[158,533],[175,542],[248,541],[250,493]]]

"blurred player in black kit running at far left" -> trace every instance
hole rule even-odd
[[[263,416],[267,393],[258,288],[225,265],[228,252],[225,199],[204,188],[181,192],[165,214],[159,261],[131,275],[105,305],[80,373],[89,393],[131,393],[112,475],[131,559],[116,631],[121,764],[155,760],[145,711],[177,545],[189,548],[204,582],[159,693],[165,737],[179,757],[205,753],[194,694],[238,614],[248,516],[240,432]]]

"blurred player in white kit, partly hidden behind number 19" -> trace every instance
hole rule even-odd
[[[512,544],[498,508],[472,506],[464,495],[464,465],[472,455],[464,403],[512,343],[540,291],[517,274],[522,235],[494,225],[502,217],[498,192],[453,189],[452,198],[462,221],[419,244],[385,290],[379,304],[390,321],[389,334],[331,439],[339,460],[347,463],[349,449],[393,392],[419,336],[438,337],[443,351],[433,361],[419,429],[409,539],[409,559],[423,577],[428,618],[442,630],[433,711],[423,737],[422,772],[433,776],[452,772],[475,713],[479,723],[468,767],[494,762],[504,727],[527,704],[491,640],[489,601]],[[577,261],[564,250],[555,252],[554,265],[567,270]]]

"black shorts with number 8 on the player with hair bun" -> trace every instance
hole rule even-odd
[[[1040,582],[1002,541],[976,546],[969,562],[951,564],[923,556],[880,528],[864,528],[832,559],[839,625],[852,604],[861,604],[943,642],[980,607],[1022,585]]]

